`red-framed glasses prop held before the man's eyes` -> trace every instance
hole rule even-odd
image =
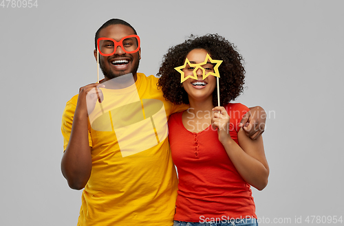
[[[114,55],[118,45],[127,54],[133,54],[140,49],[140,38],[136,34],[123,37],[119,42],[113,38],[98,38],[99,53],[103,56]]]

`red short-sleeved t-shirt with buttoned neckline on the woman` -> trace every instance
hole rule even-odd
[[[237,125],[249,109],[243,104],[227,104],[225,109],[230,137],[237,142]],[[257,218],[250,185],[230,161],[217,131],[209,126],[191,133],[182,123],[182,112],[175,113],[169,117],[169,142],[179,177],[175,221]]]

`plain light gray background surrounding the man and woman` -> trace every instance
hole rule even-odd
[[[343,1],[38,4],[0,7],[0,225],[76,225],[81,192],[61,174],[61,116],[79,87],[96,82],[94,34],[111,18],[136,28],[139,71],[147,75],[191,33],[217,32],[235,43],[247,71],[237,102],[270,115],[270,181],[261,192],[252,189],[260,225],[344,217]]]

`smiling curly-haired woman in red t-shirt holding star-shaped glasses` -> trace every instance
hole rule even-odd
[[[205,61],[207,54],[211,60]],[[218,67],[212,60],[223,62]],[[158,73],[164,98],[190,104],[187,111],[169,118],[169,142],[180,180],[174,225],[257,225],[250,185],[263,190],[268,183],[263,140],[250,139],[237,126],[249,109],[228,103],[243,90],[242,61],[233,44],[217,34],[191,36],[164,55]],[[185,65],[181,74],[175,70],[180,65]],[[221,106],[213,76],[217,67]],[[181,76],[187,78],[182,83]]]

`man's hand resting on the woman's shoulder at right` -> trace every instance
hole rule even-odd
[[[250,108],[242,118],[239,127],[241,127],[246,135],[251,139],[257,139],[264,133],[266,122],[266,112],[261,106],[254,106]]]

